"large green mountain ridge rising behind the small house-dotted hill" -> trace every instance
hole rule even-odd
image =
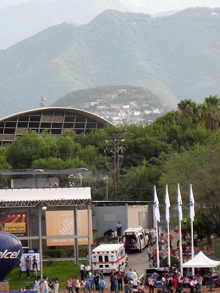
[[[201,101],[220,92],[219,27],[219,14],[198,7],[155,19],[107,10],[87,25],[50,27],[0,51],[0,116],[109,84]]]

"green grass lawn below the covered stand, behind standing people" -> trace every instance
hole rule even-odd
[[[73,261],[53,262],[49,265],[46,263],[43,265],[43,276],[48,277],[49,280],[58,277],[60,279],[59,289],[66,289],[68,276],[71,276],[71,278],[80,277],[80,266],[75,266]],[[29,286],[29,283],[25,282],[34,281],[35,279],[36,275],[33,275],[32,272],[30,273],[30,279],[27,279],[26,272],[22,272],[22,279],[20,279],[18,267],[6,277],[10,291],[19,291],[22,286]]]

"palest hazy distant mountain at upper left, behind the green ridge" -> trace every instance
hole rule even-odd
[[[0,9],[0,49],[52,25],[84,24],[106,9],[124,10],[119,0],[31,0]]]

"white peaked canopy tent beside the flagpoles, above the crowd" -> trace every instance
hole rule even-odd
[[[182,264],[182,268],[215,268],[220,266],[220,261],[208,258],[200,251],[193,259]]]

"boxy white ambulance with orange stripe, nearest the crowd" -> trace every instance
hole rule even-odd
[[[121,264],[128,264],[124,244],[101,244],[92,250],[92,270],[117,272]]]

